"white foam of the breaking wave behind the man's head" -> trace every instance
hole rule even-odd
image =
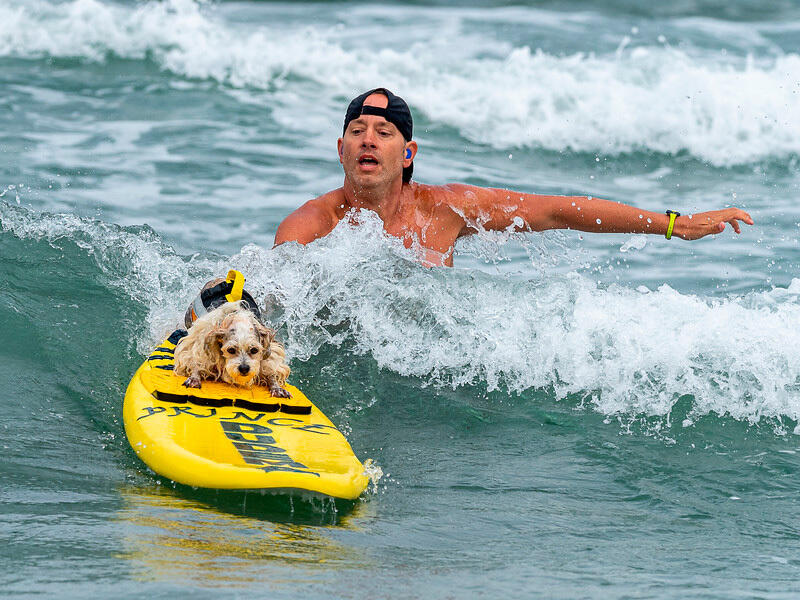
[[[454,11],[447,20],[420,15],[447,23],[446,44],[431,36],[376,51],[348,41],[333,21],[238,23],[192,0],[6,2],[0,56],[149,58],[180,77],[266,90],[273,117],[290,126],[306,122],[309,82],[313,106],[336,123],[342,97],[388,85],[430,121],[502,149],[685,151],[721,166],[800,153],[798,54],[690,54],[654,40],[608,54],[560,55],[462,34],[459,19],[475,19],[475,10]],[[362,26],[381,35],[378,24]]]

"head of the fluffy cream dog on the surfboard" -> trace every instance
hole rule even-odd
[[[269,358],[275,333],[242,308],[225,316],[214,332],[219,349],[218,367],[223,381],[250,387],[259,375],[261,361]]]

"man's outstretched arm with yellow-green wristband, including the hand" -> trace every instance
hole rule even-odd
[[[462,235],[474,233],[475,224],[502,231],[542,231],[577,229],[599,233],[655,233],[664,235],[669,216],[587,196],[546,196],[521,194],[509,190],[474,186],[448,186],[454,211],[464,217]],[[753,224],[749,214],[738,208],[726,208],[675,220],[673,235],[696,240],[724,231],[729,223],[741,232],[739,221]]]

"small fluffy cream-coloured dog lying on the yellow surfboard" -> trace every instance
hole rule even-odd
[[[175,373],[186,387],[202,380],[241,387],[264,385],[278,398],[289,398],[283,387],[289,377],[286,352],[275,332],[256,319],[242,302],[228,302],[197,319],[175,348]]]

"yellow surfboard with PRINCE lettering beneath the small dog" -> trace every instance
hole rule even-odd
[[[361,495],[364,465],[296,387],[286,385],[291,398],[223,382],[185,388],[185,378],[173,373],[175,345],[185,334],[178,330],[159,344],[125,393],[125,433],[148,467],[194,487]]]

